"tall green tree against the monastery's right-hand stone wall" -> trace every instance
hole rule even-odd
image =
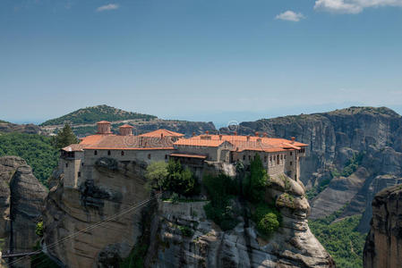
[[[250,164],[250,175],[244,180],[245,197],[252,201],[252,203],[264,200],[267,181],[267,171],[262,165],[260,155],[256,154]]]

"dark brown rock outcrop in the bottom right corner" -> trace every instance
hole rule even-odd
[[[371,230],[364,245],[364,267],[402,267],[402,187],[379,192],[372,201]]]

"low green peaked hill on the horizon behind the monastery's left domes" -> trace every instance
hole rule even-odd
[[[65,121],[69,121],[72,124],[85,124],[85,123],[95,123],[97,121],[121,121],[121,120],[151,120],[157,117],[150,114],[142,113],[132,113],[126,112],[114,107],[107,105],[98,105],[93,107],[82,108],[80,110],[74,111],[73,113],[65,114],[62,117],[51,119],[41,123],[41,126],[49,125],[61,125]]]

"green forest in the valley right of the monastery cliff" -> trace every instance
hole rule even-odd
[[[342,209],[324,219],[309,222],[310,229],[332,255],[337,267],[363,267],[366,234],[356,230],[362,215],[354,215],[339,222],[333,222],[341,213]]]

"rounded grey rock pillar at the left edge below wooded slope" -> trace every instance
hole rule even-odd
[[[7,250],[30,252],[38,241],[35,234],[40,221],[45,188],[32,174],[30,166],[20,157],[0,157],[0,238]]]

